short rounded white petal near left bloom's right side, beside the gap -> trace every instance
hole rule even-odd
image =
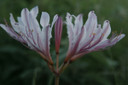
[[[49,20],[50,20],[49,14],[47,12],[42,12],[41,19],[40,19],[40,24],[42,25],[42,27],[48,26]]]

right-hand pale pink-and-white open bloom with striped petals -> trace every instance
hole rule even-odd
[[[74,24],[72,18],[75,19]],[[94,11],[88,14],[88,19],[84,25],[82,19],[82,14],[74,16],[67,13],[66,24],[69,49],[65,62],[74,61],[87,53],[112,46],[125,36],[125,34],[113,34],[108,39],[111,33],[110,23],[108,20],[104,21],[103,27],[101,28],[101,25],[97,24],[97,16]]]

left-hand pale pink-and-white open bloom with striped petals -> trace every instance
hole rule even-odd
[[[20,41],[25,46],[39,53],[48,63],[53,64],[50,56],[50,39],[51,31],[58,16],[55,15],[52,24],[49,24],[50,16],[47,12],[42,12],[40,24],[36,19],[38,7],[34,7],[30,11],[24,8],[21,11],[21,17],[16,22],[12,14],[10,14],[11,26],[0,24],[0,26],[14,39]]]

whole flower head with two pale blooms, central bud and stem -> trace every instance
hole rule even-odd
[[[56,84],[63,70],[71,61],[99,49],[112,46],[120,41],[125,34],[116,35],[108,39],[111,33],[110,22],[104,21],[103,27],[97,24],[97,16],[94,11],[88,14],[88,19],[83,25],[83,15],[78,16],[67,13],[66,24],[69,38],[69,49],[65,61],[59,67],[59,48],[62,36],[63,21],[58,15],[55,15],[50,25],[50,16],[47,12],[42,12],[40,24],[36,17],[38,7],[34,7],[30,11],[24,8],[21,11],[21,17],[17,17],[15,21],[10,14],[11,26],[0,24],[0,26],[14,39],[20,41],[28,48],[39,53],[47,62],[49,69],[56,75]],[[73,19],[74,18],[74,19]],[[74,22],[73,22],[74,20]],[[55,48],[56,48],[56,69],[50,55],[50,39],[53,25],[55,24]],[[41,25],[41,27],[40,27]]]

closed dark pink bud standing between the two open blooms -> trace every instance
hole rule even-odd
[[[60,41],[62,35],[62,28],[63,28],[63,21],[61,17],[58,17],[55,23],[55,47],[56,47],[56,54],[59,53],[60,48]]]

